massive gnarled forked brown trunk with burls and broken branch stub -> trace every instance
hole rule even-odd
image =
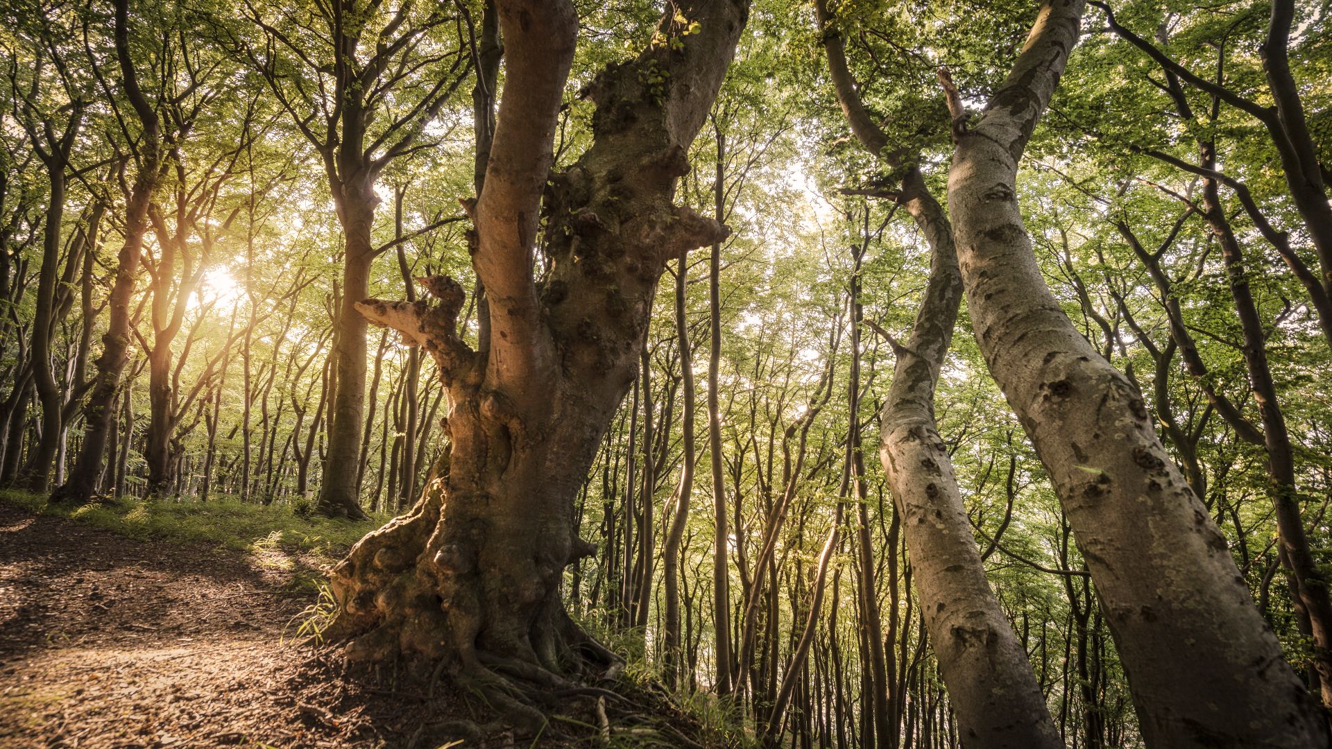
[[[507,689],[511,678],[549,688],[567,684],[562,674],[578,664],[609,660],[559,596],[563,568],[594,549],[577,537],[574,502],[637,376],[666,261],[726,235],[673,196],[747,4],[679,4],[686,23],[667,15],[659,28],[678,43],[598,76],[589,89],[593,145],[561,173],[549,165],[577,33],[573,4],[497,5],[507,87],[485,191],[466,201],[490,339],[480,352],[462,341],[464,292],[448,277],[422,280],[434,304],[357,304],[434,357],[450,446],[412,512],[333,569],[340,612],[328,634],[349,640],[353,660],[444,658],[456,678],[537,730],[543,718],[530,693]],[[694,21],[698,31],[682,33]],[[645,75],[666,68],[665,81]],[[543,193],[549,275],[538,285]],[[590,660],[573,657],[579,649]]]

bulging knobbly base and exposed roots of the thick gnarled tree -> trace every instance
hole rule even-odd
[[[450,678],[526,738],[561,737],[553,718],[590,717],[598,697],[623,704],[598,686],[623,661],[567,616],[558,588],[534,597],[523,626],[488,620],[496,608],[484,596],[502,582],[488,577],[468,549],[466,530],[441,521],[449,501],[446,460],[434,476],[408,514],[368,534],[332,570],[340,609],[325,637],[344,644],[349,665],[417,664],[432,692],[440,678]],[[429,670],[420,664],[430,664]],[[453,726],[472,736],[497,725],[472,728]],[[441,730],[432,726],[422,737],[433,741]]]

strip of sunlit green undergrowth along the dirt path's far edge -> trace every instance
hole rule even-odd
[[[131,538],[216,544],[248,556],[258,566],[289,570],[297,577],[309,577],[320,566],[337,561],[361,536],[390,517],[332,520],[297,514],[286,504],[262,505],[234,497],[208,501],[105,498],[69,506],[48,502],[41,494],[0,490],[0,502]]]

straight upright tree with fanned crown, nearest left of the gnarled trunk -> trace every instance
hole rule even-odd
[[[328,457],[316,505],[328,516],[361,518],[366,321],[356,304],[369,296],[370,265],[388,248],[373,244],[374,187],[396,159],[429,147],[418,141],[466,80],[470,57],[438,39],[450,21],[442,8],[413,0],[396,8],[377,1],[245,8],[261,37],[252,43],[240,33],[236,43],[318,153],[344,232]],[[322,35],[306,33],[308,24]]]

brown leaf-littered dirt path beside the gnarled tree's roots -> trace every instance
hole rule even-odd
[[[464,708],[284,642],[274,561],[0,505],[0,746],[408,746]]]

